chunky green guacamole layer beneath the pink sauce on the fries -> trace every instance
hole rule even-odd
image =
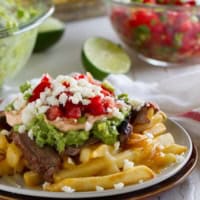
[[[63,152],[67,146],[81,146],[90,136],[99,139],[105,144],[113,145],[117,142],[118,131],[116,126],[121,120],[110,119],[98,121],[91,131],[78,130],[66,133],[59,131],[54,126],[45,122],[44,115],[38,115],[27,127],[29,136],[32,137],[40,147],[45,145],[54,147],[58,152]],[[15,126],[18,131],[20,126]]]

